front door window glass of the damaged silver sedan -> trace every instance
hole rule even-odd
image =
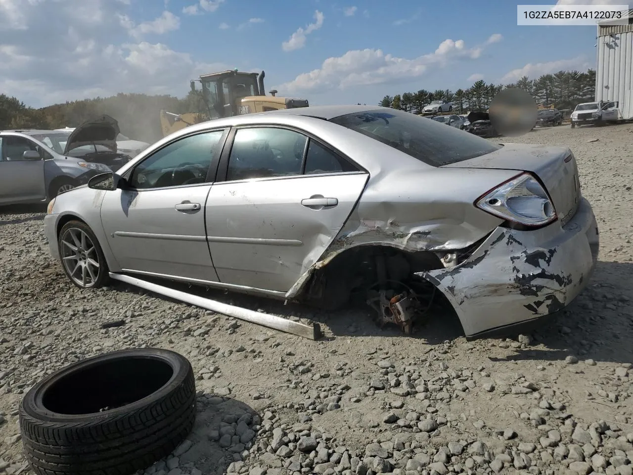
[[[206,182],[211,162],[220,157],[224,130],[184,137],[161,148],[132,171],[137,189],[184,186]]]

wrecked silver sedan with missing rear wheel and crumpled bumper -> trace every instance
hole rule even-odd
[[[132,275],[330,309],[360,295],[405,331],[443,298],[468,338],[563,310],[599,243],[570,149],[351,105],[180,130],[52,200],[44,230],[79,288]]]

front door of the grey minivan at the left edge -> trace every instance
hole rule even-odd
[[[39,160],[25,160],[25,151],[37,151]],[[34,141],[20,136],[0,137],[0,204],[46,200],[42,158]]]

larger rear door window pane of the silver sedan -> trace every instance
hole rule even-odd
[[[238,129],[229,156],[227,181],[300,175],[307,140],[294,130]]]

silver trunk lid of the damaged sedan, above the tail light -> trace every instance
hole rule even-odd
[[[578,166],[566,147],[505,144],[487,155],[444,165],[443,168],[492,168],[531,172],[544,184],[562,225],[572,219],[580,201]],[[482,193],[486,190],[482,190]]]

